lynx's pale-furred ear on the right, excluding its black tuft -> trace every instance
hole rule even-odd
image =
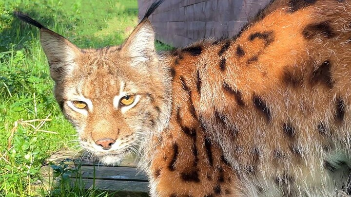
[[[155,32],[149,19],[144,18],[122,45],[122,52],[137,66],[155,55]]]

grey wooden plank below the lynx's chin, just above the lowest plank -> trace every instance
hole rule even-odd
[[[81,176],[82,179],[94,179],[94,167],[81,166],[77,176]],[[73,177],[77,178],[76,176]],[[148,178],[143,172],[132,167],[96,166],[95,179],[148,182]]]

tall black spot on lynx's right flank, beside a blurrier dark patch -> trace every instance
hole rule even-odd
[[[312,72],[311,85],[325,84],[327,87],[333,87],[331,74],[331,63],[329,60],[323,62],[316,70]]]

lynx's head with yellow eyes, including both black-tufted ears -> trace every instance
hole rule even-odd
[[[40,28],[55,97],[76,127],[83,148],[106,164],[161,130],[170,115],[167,71],[155,52],[155,33],[147,17],[157,1],[121,46],[79,49],[63,36],[19,13]]]

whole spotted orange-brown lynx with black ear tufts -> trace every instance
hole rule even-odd
[[[105,164],[137,151],[152,197],[333,197],[351,173],[351,0],[273,0],[237,36],[156,52],[40,29],[55,97]]]

